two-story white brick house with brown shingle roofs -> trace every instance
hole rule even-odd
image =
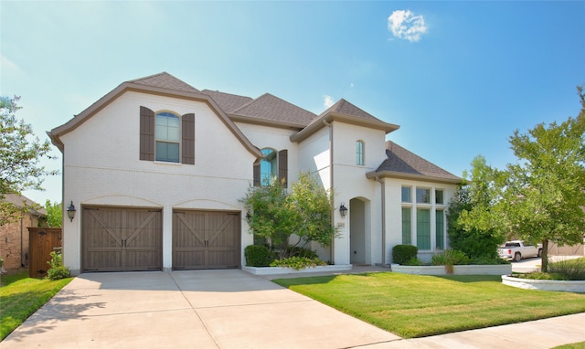
[[[250,185],[310,171],[335,189],[331,263],[389,264],[448,244],[446,208],[461,178],[396,143],[346,100],[320,115],[266,93],[197,90],[160,73],[123,82],[48,132],[63,153],[64,264],[106,270],[241,268],[253,243],[240,199]],[[342,217],[339,207],[348,208]]]

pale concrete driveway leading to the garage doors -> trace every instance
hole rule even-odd
[[[81,274],[8,348],[346,348],[400,338],[242,270]]]

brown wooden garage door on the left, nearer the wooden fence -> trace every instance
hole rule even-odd
[[[161,210],[83,207],[83,271],[161,270]]]

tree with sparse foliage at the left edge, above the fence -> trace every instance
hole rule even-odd
[[[21,108],[18,100],[0,97],[0,225],[11,222],[16,212],[28,209],[5,201],[7,194],[41,190],[43,177],[56,174],[40,164],[42,158],[50,158],[50,143],[41,142],[29,124],[16,119],[16,111]]]

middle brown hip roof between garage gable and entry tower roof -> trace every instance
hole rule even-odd
[[[241,106],[233,111],[234,114],[269,120],[272,122],[286,122],[300,126],[308,125],[317,116],[311,111],[282,100],[270,93],[261,95],[256,100]]]

